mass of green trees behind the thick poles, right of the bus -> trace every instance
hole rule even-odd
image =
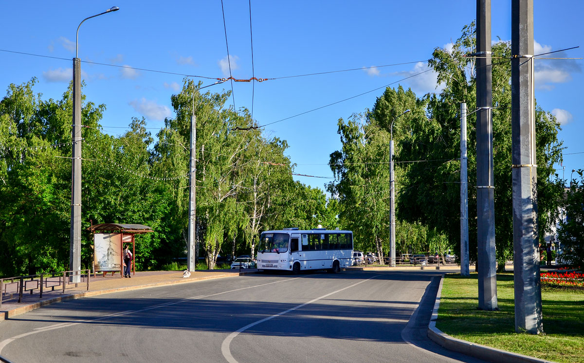
[[[416,97],[412,90],[387,88],[371,111],[339,121],[341,151],[331,154],[336,180],[328,189],[339,199],[343,222],[369,242],[387,241],[389,207],[388,147],[394,139],[397,253],[460,252],[460,102],[467,103],[468,208],[471,260],[477,260],[477,163],[475,26],[463,28],[453,48],[436,48],[429,61],[442,89]],[[499,266],[513,253],[511,184],[510,44],[492,46],[493,165],[495,173],[496,258]],[[411,112],[400,116],[405,110]],[[360,123],[361,122],[361,123]],[[554,221],[561,185],[552,181],[554,163],[561,161],[558,122],[536,107],[536,149],[539,238]],[[384,135],[388,135],[387,137]],[[380,142],[377,142],[380,140]],[[369,189],[367,189],[369,188]],[[373,194],[372,194],[373,193]],[[375,198],[368,196],[378,193]],[[387,201],[388,203],[388,201]],[[376,209],[378,208],[378,209]],[[369,218],[370,215],[376,218]],[[367,218],[366,218],[367,216]],[[353,224],[351,224],[351,221]],[[378,237],[376,237],[378,236]],[[386,246],[386,245],[384,245]],[[387,247],[384,247],[387,248]]]

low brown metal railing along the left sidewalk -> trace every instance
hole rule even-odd
[[[72,285],[77,288],[79,284],[86,284],[89,291],[89,273],[89,270],[78,270],[0,278],[0,308],[2,308],[2,302],[16,298],[18,302],[21,302],[22,296],[26,293],[39,294],[39,299],[41,299],[43,292],[55,291],[57,288],[61,290],[61,294],[65,294],[65,289],[72,288]]]

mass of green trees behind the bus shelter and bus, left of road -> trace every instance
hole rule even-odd
[[[0,102],[0,274],[62,271],[69,263],[71,85],[60,100],[34,93],[36,79],[9,85]],[[190,117],[197,116],[197,241],[213,268],[219,253],[255,251],[257,235],[288,226],[336,226],[337,204],[294,181],[287,143],[266,138],[245,109],[225,107],[230,93],[200,93],[185,79],[171,97],[176,117],[156,135],[145,120],[102,131],[105,105],[82,96],[82,228],[136,223],[138,269],[186,256]],[[82,266],[92,265],[92,236],[82,233]]]

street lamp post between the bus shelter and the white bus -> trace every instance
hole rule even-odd
[[[199,89],[218,85],[224,81],[218,81],[212,85],[204,86]],[[187,243],[187,270],[194,271],[197,266],[197,242],[196,242],[196,228],[197,228],[197,116],[194,114],[194,96],[199,89],[193,92],[192,114],[190,116],[190,168],[189,168],[189,225],[188,225],[188,243]]]

